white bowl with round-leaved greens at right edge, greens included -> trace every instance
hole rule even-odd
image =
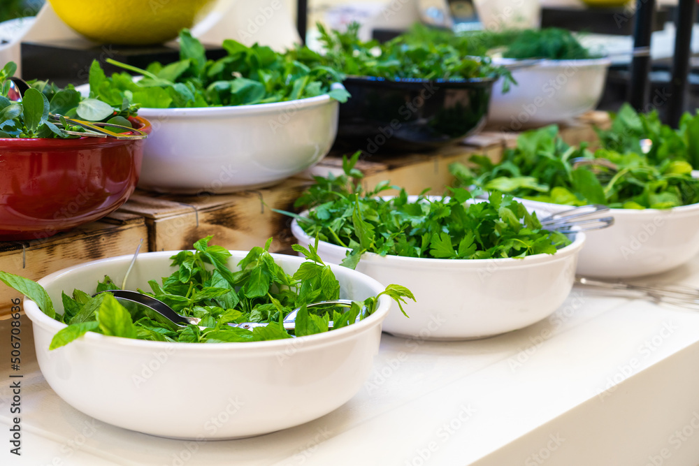
[[[699,253],[699,180],[682,159],[682,145],[670,145],[669,155],[668,147],[647,154],[606,148],[592,153],[569,147],[557,134],[556,126],[526,131],[500,163],[477,156],[475,168],[452,166],[452,173],[462,184],[507,192],[545,212],[589,203],[612,207],[614,226],[587,233],[581,275],[652,275]]]

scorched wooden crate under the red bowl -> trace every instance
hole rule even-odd
[[[101,221],[44,240],[0,242],[0,270],[36,280],[78,263],[133,254],[141,238],[141,251],[145,252],[147,235],[143,217],[117,211]],[[0,316],[8,314],[10,300],[20,296],[0,283]]]

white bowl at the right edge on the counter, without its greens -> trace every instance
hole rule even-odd
[[[570,205],[520,199],[542,212],[562,212]],[[614,225],[588,231],[577,273],[600,278],[633,278],[666,272],[699,252],[699,204],[658,209],[612,209],[598,217],[614,217]]]

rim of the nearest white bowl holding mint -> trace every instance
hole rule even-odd
[[[160,257],[164,259],[169,259],[171,256],[174,254],[177,254],[179,251],[159,251],[159,252],[143,252],[139,254],[139,257],[151,257],[154,259],[159,259]],[[231,250],[231,253],[236,254],[240,253],[243,254],[241,256],[241,259],[245,257],[247,254],[247,251],[238,251],[238,250]],[[298,261],[303,261],[301,257],[298,256],[289,256],[287,254],[275,254],[272,253],[272,256],[276,258],[282,257],[282,258],[293,258],[293,260],[298,259]],[[73,270],[79,269],[79,268],[84,268],[84,267],[98,267],[99,265],[103,265],[106,263],[112,263],[112,262],[120,262],[120,261],[130,261],[131,258],[133,257],[133,254],[127,254],[124,256],[115,256],[115,257],[109,257],[106,259],[98,259],[96,261],[89,261],[85,263],[80,263],[78,265],[73,265],[72,267],[64,268],[62,270],[58,270],[57,272],[53,272],[50,275],[46,275],[45,277],[41,278],[38,280],[38,283],[43,286],[45,282],[48,282],[50,280],[57,279],[58,277],[61,277],[62,275],[66,275],[68,273],[71,273]],[[301,262],[299,262],[301,263]],[[331,268],[338,268],[341,267],[340,265],[335,265],[335,264],[328,264],[331,266]],[[343,268],[345,269],[345,268]],[[374,284],[377,285],[377,288],[379,289],[384,289],[384,286],[377,282],[377,280],[373,279],[372,277],[369,277],[368,275],[364,275],[361,272],[357,272],[356,270],[352,270],[347,268],[346,270],[349,270],[351,274],[359,274],[363,275],[365,279],[367,279],[369,282],[374,282]],[[158,277],[159,278],[159,277]],[[64,290],[65,291],[65,290]],[[389,309],[391,307],[390,303],[391,298],[389,298],[386,295],[382,295],[379,298],[378,306],[375,312],[371,314],[370,316],[366,317],[366,319],[362,319],[359,322],[352,323],[352,325],[343,327],[343,328],[338,328],[337,330],[329,330],[327,332],[323,333],[317,333],[314,335],[306,335],[303,337],[296,337],[296,338],[284,338],[283,340],[266,340],[266,341],[261,341],[261,342],[226,342],[226,343],[184,343],[184,342],[154,342],[152,340],[136,340],[133,338],[124,338],[124,337],[113,337],[110,335],[102,335],[101,333],[94,333],[94,332],[87,332],[85,335],[80,337],[81,339],[85,339],[85,342],[90,342],[91,344],[97,344],[98,346],[106,346],[106,347],[120,347],[121,349],[171,349],[173,347],[177,348],[178,351],[181,351],[182,349],[192,349],[192,351],[199,351],[199,352],[204,352],[204,353],[212,353],[212,352],[217,352],[217,351],[231,351],[232,349],[235,349],[236,354],[239,354],[241,351],[262,351],[262,350],[283,350],[287,349],[289,346],[293,346],[298,348],[299,350],[301,349],[307,349],[311,347],[315,347],[318,345],[324,345],[328,342],[336,342],[340,340],[345,340],[346,338],[353,337],[357,333],[362,333],[363,331],[369,330],[370,327],[375,326],[377,323],[380,323],[383,321],[383,319],[388,315]],[[38,305],[34,303],[33,300],[30,300],[29,298],[25,297],[23,300],[23,308],[24,308],[24,313],[27,314],[29,319],[32,321],[34,325],[38,325],[44,328],[50,328],[51,330],[55,330],[55,332],[61,330],[62,328],[66,328],[66,324],[59,322],[55,319],[52,319],[50,316],[45,314],[42,310],[38,308]],[[54,332],[54,334],[55,334]],[[80,341],[78,339],[77,341]],[[72,344],[72,342],[71,342]]]

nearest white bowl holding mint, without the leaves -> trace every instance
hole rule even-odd
[[[127,288],[170,275],[172,252],[140,254]],[[233,252],[229,266],[247,252]],[[293,272],[302,259],[275,254]],[[61,291],[94,291],[97,279],[121,282],[131,256],[103,259],[39,280],[53,303]],[[354,270],[333,266],[343,298],[363,300],[383,287]],[[250,343],[188,344],[87,333],[48,350],[64,328],[24,300],[34,327],[36,358],[51,388],[69,405],[100,421],[163,437],[231,439],[289,428],[328,414],[359,391],[377,354],[390,300],[351,326],[319,335]]]

